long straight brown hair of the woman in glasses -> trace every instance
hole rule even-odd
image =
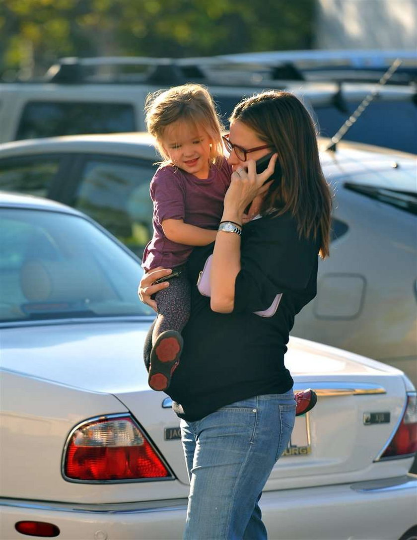
[[[241,101],[230,121],[239,120],[278,153],[282,177],[272,182],[260,213],[291,212],[300,236],[320,238],[320,255],[329,254],[332,197],[321,170],[313,120],[289,92],[270,90]]]

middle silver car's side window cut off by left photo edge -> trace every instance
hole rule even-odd
[[[0,160],[0,190],[47,197],[59,159]]]

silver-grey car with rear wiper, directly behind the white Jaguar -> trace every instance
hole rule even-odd
[[[8,143],[0,190],[69,204],[141,256],[159,159],[144,133]],[[387,362],[417,384],[415,156],[339,143],[321,160],[335,197],[331,257],[320,262],[317,298],[292,334]]]

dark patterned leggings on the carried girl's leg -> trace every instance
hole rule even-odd
[[[152,330],[152,345],[165,330],[181,333],[190,317],[190,282],[186,272],[172,278],[169,284],[155,295],[158,316]]]

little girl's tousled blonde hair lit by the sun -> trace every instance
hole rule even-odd
[[[213,164],[223,158],[221,131],[223,125],[217,114],[213,98],[204,86],[184,84],[169,90],[158,90],[147,95],[145,100],[145,123],[147,131],[156,139],[159,153],[169,161],[163,147],[163,137],[167,126],[183,120],[201,126],[212,139],[210,152]]]

